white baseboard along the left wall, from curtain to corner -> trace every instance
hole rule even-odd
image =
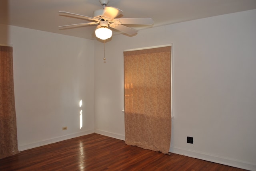
[[[19,149],[19,151],[24,151],[26,149],[40,147],[40,146],[43,146],[43,145],[48,145],[48,144],[51,144],[51,143],[56,143],[56,142],[60,142],[60,141],[63,141],[63,140],[68,140],[68,139],[71,139],[71,138],[85,136],[85,135],[92,134],[92,133],[94,133],[94,130],[87,130],[87,131],[84,131],[84,132],[77,132],[77,133],[74,133],[74,134],[68,134],[68,135],[64,135],[64,136],[60,136],[60,137],[56,137],[56,138],[51,138],[51,139],[48,139],[48,140],[43,140],[43,141],[40,141],[40,142],[35,142],[35,143],[30,143],[30,144],[20,145],[20,146],[18,145],[18,149]]]

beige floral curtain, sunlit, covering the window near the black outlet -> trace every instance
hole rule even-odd
[[[124,52],[125,142],[168,154],[171,47]]]

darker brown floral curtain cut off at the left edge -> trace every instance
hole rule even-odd
[[[0,46],[0,159],[18,152],[12,47]]]

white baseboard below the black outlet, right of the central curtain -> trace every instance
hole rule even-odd
[[[247,163],[244,161],[238,161],[235,159],[229,159],[229,158],[225,158],[225,157],[221,157],[221,156],[214,156],[211,154],[201,153],[198,151],[191,151],[188,149],[182,149],[182,148],[173,147],[173,146],[170,147],[170,152],[180,154],[180,155],[186,155],[188,157],[193,157],[196,159],[202,159],[202,160],[211,161],[214,163],[220,163],[223,165],[246,169],[246,170],[250,170],[250,171],[256,171],[255,164]]]

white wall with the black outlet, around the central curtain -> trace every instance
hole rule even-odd
[[[95,131],[124,140],[123,51],[171,43],[170,151],[256,170],[256,10],[95,41]]]

